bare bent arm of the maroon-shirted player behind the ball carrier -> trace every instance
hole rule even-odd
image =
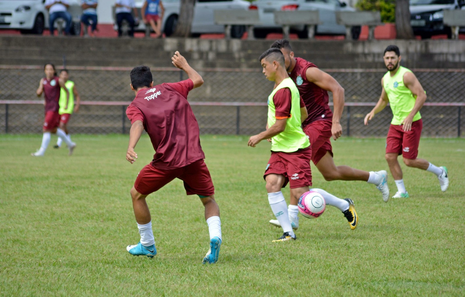
[[[332,92],[333,112],[331,134],[332,138],[336,140],[342,135],[340,119],[342,111],[344,110],[345,90],[331,75],[316,67],[307,68],[305,75],[308,81],[311,81],[323,90]]]

